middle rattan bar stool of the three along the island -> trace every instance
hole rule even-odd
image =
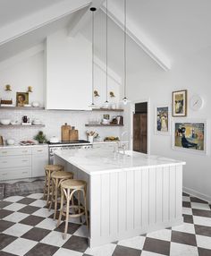
[[[55,202],[55,214],[54,214],[54,219],[56,216],[56,211],[57,211],[57,205],[59,196],[61,195],[61,190],[60,186],[61,183],[67,179],[73,179],[73,174],[71,172],[64,172],[64,171],[59,171],[59,172],[54,172],[51,175],[52,178],[52,192],[51,192],[51,202],[49,206],[49,210],[52,208],[52,204]]]

